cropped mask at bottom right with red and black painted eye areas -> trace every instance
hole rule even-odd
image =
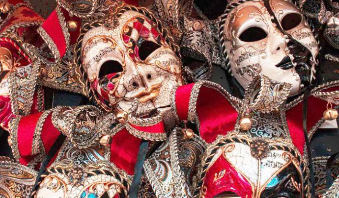
[[[306,195],[303,180],[306,172],[300,168],[300,155],[273,142],[270,145],[262,140],[244,141],[234,136],[232,141],[218,142],[217,151],[208,153],[213,157],[201,187],[205,198],[219,197],[217,195],[226,192],[241,198],[302,198]]]

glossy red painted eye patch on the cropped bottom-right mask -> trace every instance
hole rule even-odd
[[[225,171],[224,176],[215,179],[222,171]],[[250,182],[235,170],[223,155],[207,171],[204,186],[206,186],[205,198],[213,198],[223,192],[233,192],[241,198],[252,198],[253,195]]]

